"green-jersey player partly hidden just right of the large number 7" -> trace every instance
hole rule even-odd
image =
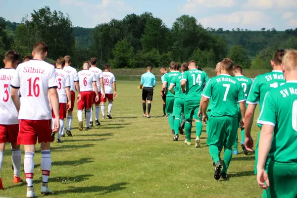
[[[240,65],[233,66],[233,75],[241,83],[241,86],[243,87],[244,92],[245,92],[245,96],[247,97],[249,90],[251,88],[251,85],[252,85],[252,81],[250,80],[250,78],[243,76],[243,68]],[[245,147],[245,128],[240,125],[241,113],[240,113],[240,109],[239,109],[239,103],[237,103],[237,107],[238,107],[237,109],[238,109],[239,128],[242,130],[242,132],[241,132],[241,137],[242,137],[241,147],[243,148],[243,152],[245,154],[247,154],[248,151]],[[247,104],[246,104],[246,108],[247,108]],[[238,145],[238,134],[236,134],[235,143],[233,145],[233,154],[238,154],[237,145]]]

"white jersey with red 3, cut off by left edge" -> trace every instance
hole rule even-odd
[[[13,68],[0,69],[0,124],[18,124],[18,112],[10,97],[10,83],[15,76]]]

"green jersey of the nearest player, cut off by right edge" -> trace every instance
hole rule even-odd
[[[269,157],[277,162],[297,162],[297,81],[269,91],[258,123],[274,126]]]

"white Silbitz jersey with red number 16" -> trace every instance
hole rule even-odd
[[[19,64],[11,87],[20,88],[22,94],[20,120],[51,119],[48,93],[50,88],[57,88],[53,65],[34,59]]]

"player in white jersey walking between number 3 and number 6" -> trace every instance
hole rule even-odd
[[[75,100],[75,90],[77,91],[77,98],[76,100],[79,101],[81,99],[81,93],[79,88],[79,80],[77,76],[77,71],[75,68],[71,67],[71,57],[69,55],[64,56],[65,59],[65,67],[63,68],[64,71],[66,71],[69,74],[70,77],[70,91],[71,91],[71,108],[68,110],[67,114],[67,127],[66,127],[66,133],[68,136],[72,136],[71,133],[71,125],[72,125],[72,119],[73,119],[73,107],[74,107],[74,100]],[[62,137],[65,136],[64,129],[62,132]]]

